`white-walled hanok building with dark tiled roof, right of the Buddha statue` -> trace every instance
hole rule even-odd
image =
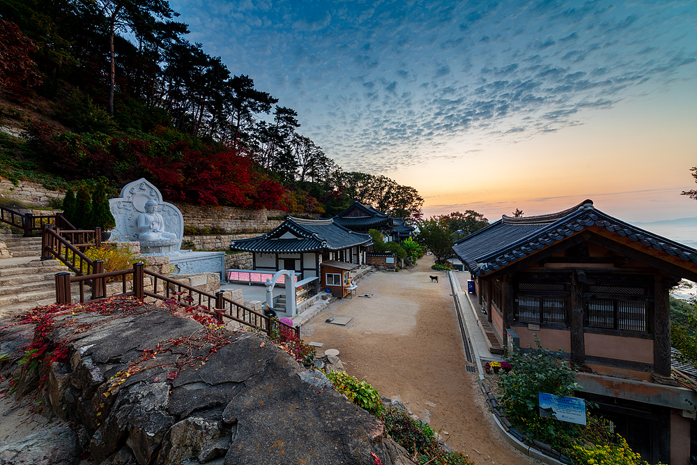
[[[232,241],[230,249],[253,252],[253,270],[294,270],[304,280],[319,277],[323,261],[365,264],[370,245],[370,236],[350,231],[332,219],[288,217],[268,234]]]

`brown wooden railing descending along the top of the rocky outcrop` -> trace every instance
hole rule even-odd
[[[293,328],[293,326],[286,325],[286,323],[276,321],[261,312],[245,307],[245,305],[233,302],[233,300],[224,297],[223,291],[210,294],[178,282],[171,277],[146,270],[141,263],[135,264],[129,270],[104,273],[102,262],[95,261],[93,269],[95,273],[84,276],[71,276],[70,273],[56,274],[56,303],[65,304],[72,302],[70,284],[74,282],[79,283],[80,302],[85,301],[85,282],[93,283],[91,300],[105,298],[107,297],[107,278],[121,277],[121,292],[112,294],[112,296],[135,296],[138,300],[143,300],[148,296],[176,305],[195,306],[204,313],[213,315],[220,323],[223,323],[224,319],[230,319],[245,326],[261,330],[268,335],[271,335],[273,332],[274,325],[280,325],[293,330],[296,336],[300,337],[300,326]],[[127,278],[128,275],[131,275],[130,279]],[[153,280],[153,291],[146,291],[146,275]],[[158,281],[162,284],[161,286],[158,285]],[[130,290],[128,290],[128,284],[131,284]],[[160,287],[162,287],[161,291]]]

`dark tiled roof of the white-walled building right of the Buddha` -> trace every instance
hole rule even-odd
[[[297,238],[281,238],[290,232]],[[303,220],[288,217],[276,229],[263,236],[232,241],[231,250],[266,253],[297,253],[341,250],[355,245],[369,245],[370,236],[359,234],[329,220]]]

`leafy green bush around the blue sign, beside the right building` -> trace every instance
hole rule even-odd
[[[508,420],[523,433],[551,445],[567,445],[569,437],[578,433],[579,427],[555,418],[539,416],[539,392],[558,396],[571,396],[578,388],[574,371],[561,352],[542,349],[537,337],[536,347],[523,353],[514,349],[508,363],[513,369],[498,381],[499,403]]]

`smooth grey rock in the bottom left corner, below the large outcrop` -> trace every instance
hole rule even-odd
[[[67,426],[0,445],[0,465],[72,465],[79,455],[75,432]]]

